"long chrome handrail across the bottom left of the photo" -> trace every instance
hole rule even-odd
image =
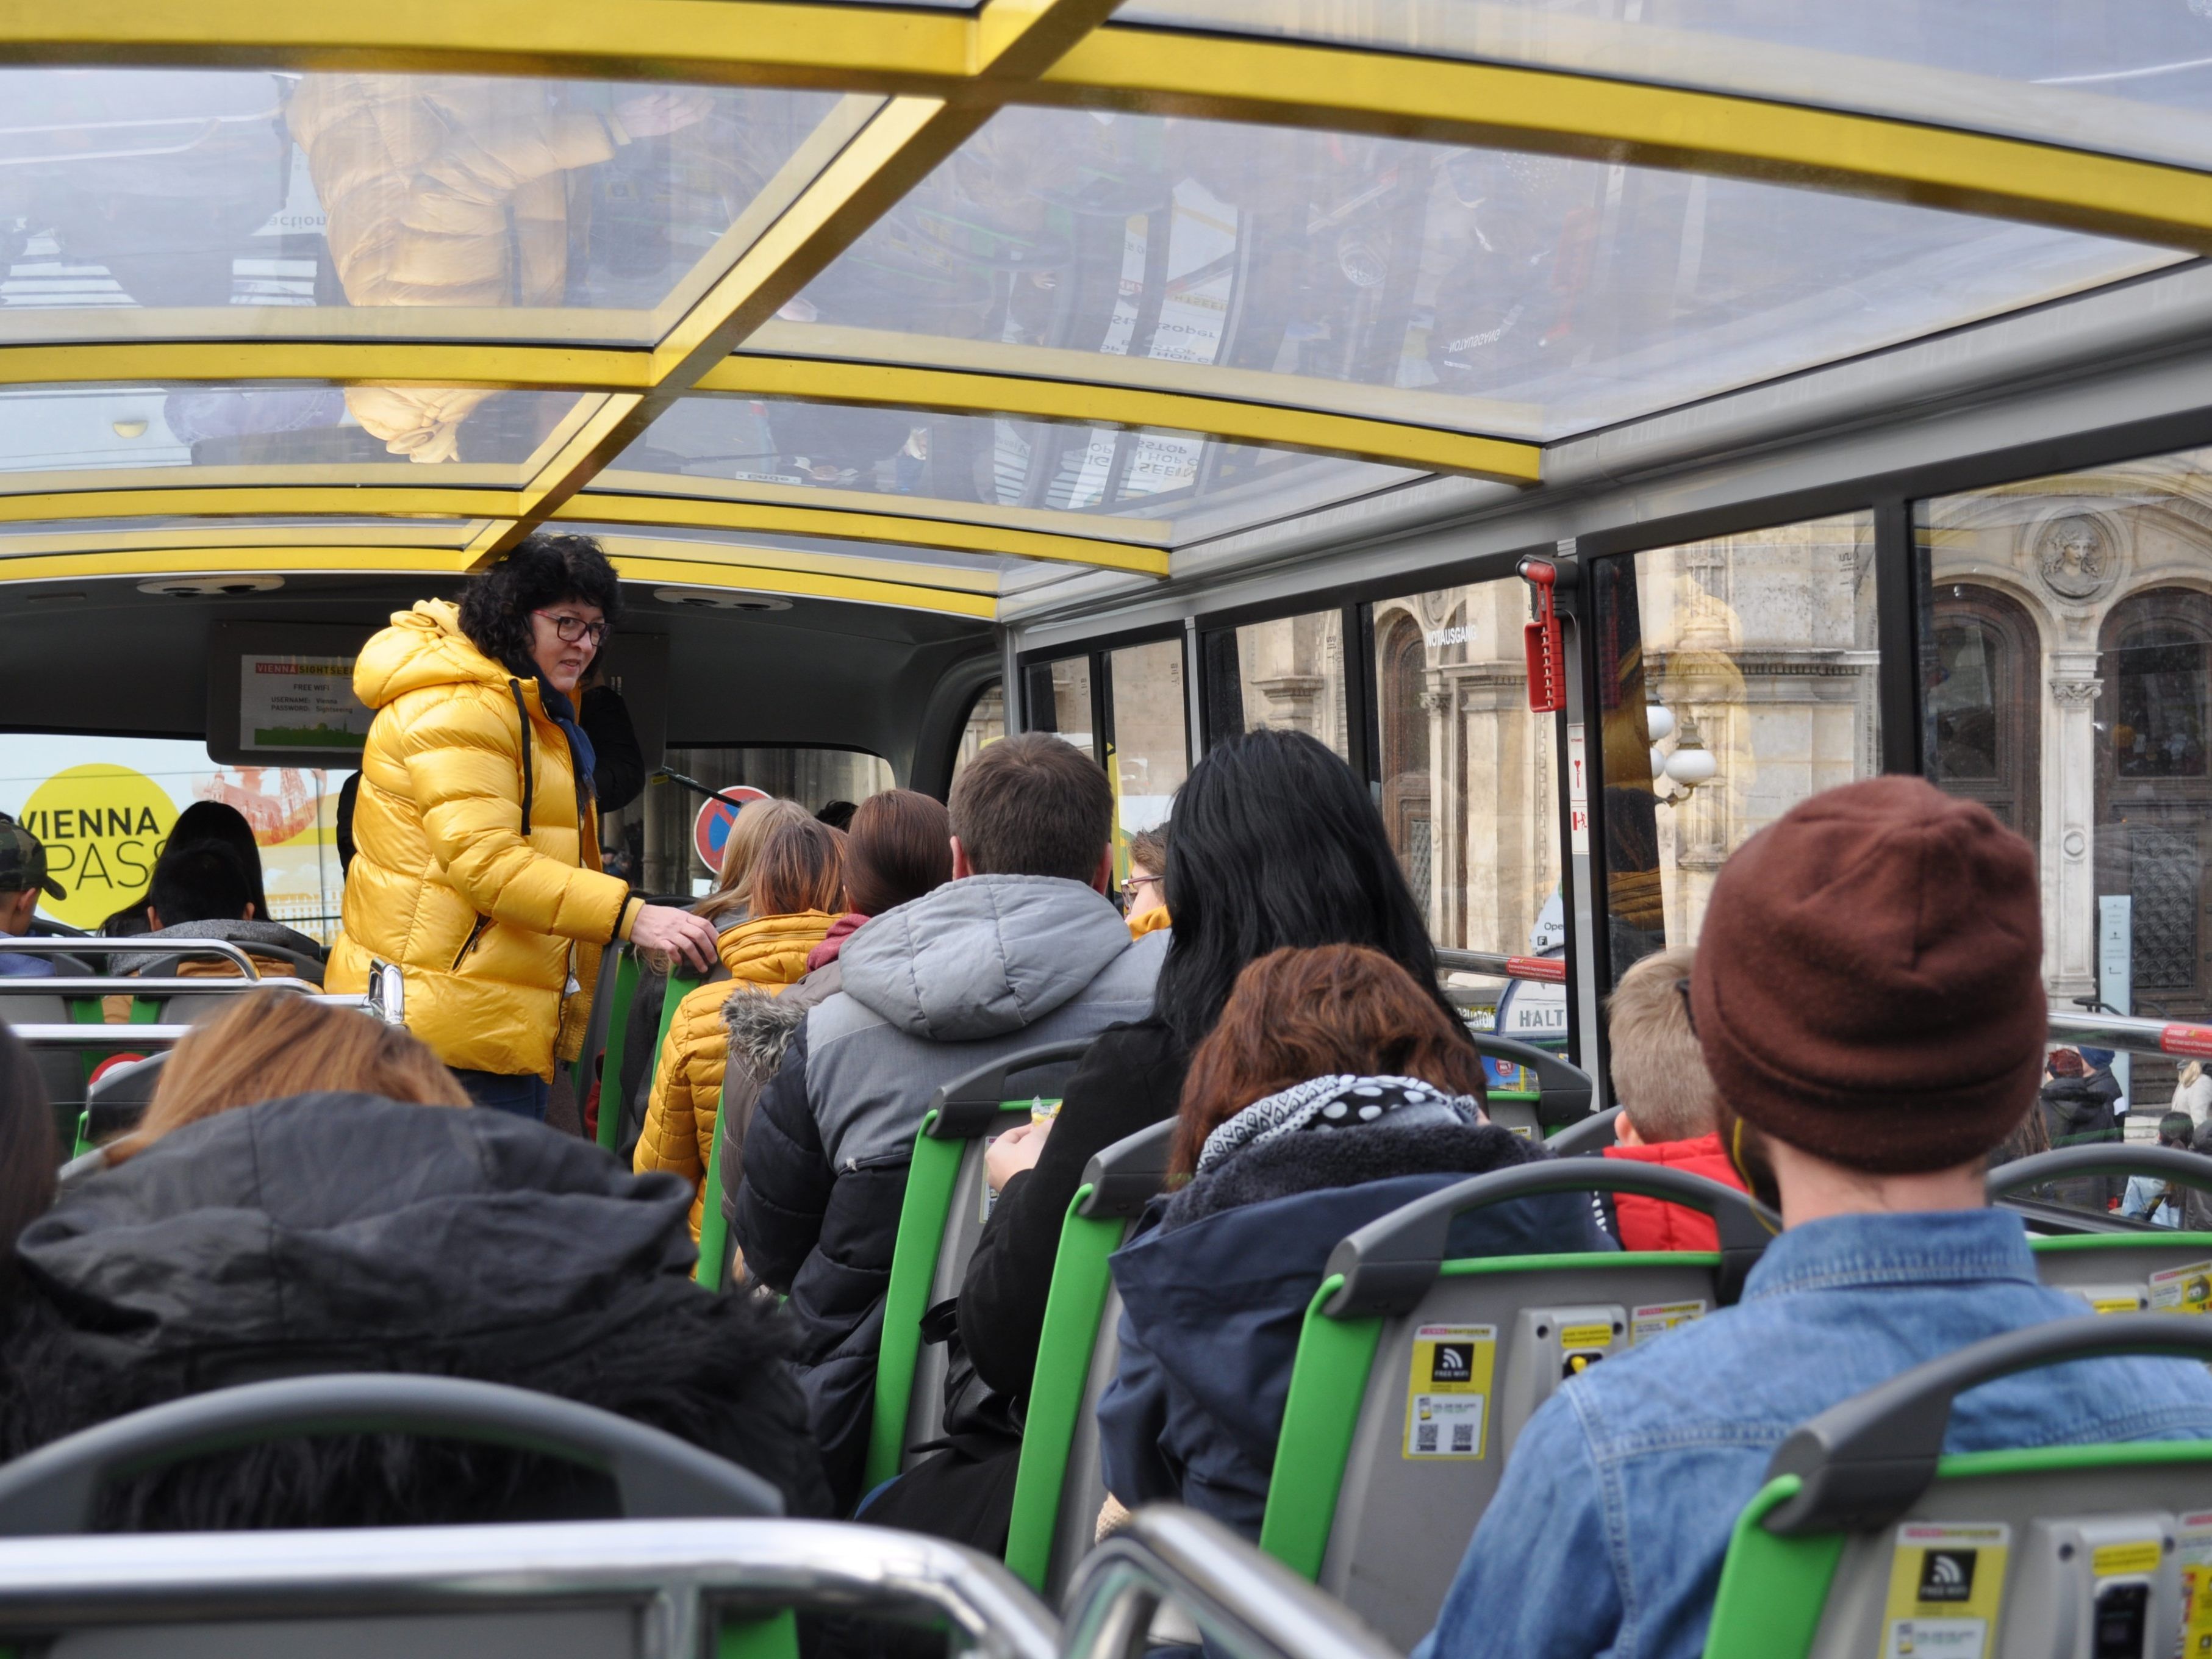
[[[619,1520],[0,1540],[0,1624],[204,1624],[639,1604],[639,1659],[712,1652],[754,1606],[927,1610],[980,1659],[1057,1659],[1051,1610],[936,1537],[803,1520]],[[1360,1659],[1367,1659],[1365,1655]]]

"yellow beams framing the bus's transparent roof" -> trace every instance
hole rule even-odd
[[[1166,575],[1104,535],[898,511],[593,491],[688,392],[1197,431],[1531,484],[1535,445],[1336,409],[987,369],[739,356],[838,252],[1004,104],[1323,126],[1767,179],[2212,252],[2212,173],[1728,93],[1349,46],[1104,24],[1113,0],[975,13],[787,0],[0,0],[0,60],[529,73],[852,93],[763,192],[750,246],[650,349],[192,341],[0,349],[0,383],[316,378],[611,394],[520,491],[365,487],[18,495],[9,518],[427,513],[491,520],[489,557],[546,520],[960,546]],[[885,102],[878,102],[885,100]],[[1102,365],[1099,376],[1115,374]],[[325,500],[327,498],[327,500]],[[343,498],[343,504],[341,504]],[[723,566],[712,566],[723,568]],[[894,584],[896,586],[896,584]]]

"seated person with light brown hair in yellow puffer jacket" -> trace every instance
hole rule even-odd
[[[639,1175],[670,1170],[690,1181],[692,1239],[706,1214],[706,1161],[714,1150],[714,1113],[730,1057],[730,1035],[721,1022],[721,1004],[730,1000],[726,980],[776,993],[805,978],[807,953],[838,920],[845,894],[843,841],[843,834],[812,818],[787,823],[768,836],[745,891],[752,920],[714,936],[721,971],[677,1002],[668,1018],[635,1168]]]

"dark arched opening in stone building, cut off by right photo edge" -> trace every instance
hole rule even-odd
[[[2135,1002],[2201,1018],[2212,902],[2212,597],[2152,588],[2097,639],[2097,894],[2128,894]]]

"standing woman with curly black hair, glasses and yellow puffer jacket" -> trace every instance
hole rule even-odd
[[[407,975],[407,1026],[478,1106],[542,1119],[613,940],[714,964],[714,927],[599,869],[591,741],[568,701],[619,604],[584,535],[533,535],[458,606],[400,611],[354,661],[361,757],[345,925],[325,984]]]

